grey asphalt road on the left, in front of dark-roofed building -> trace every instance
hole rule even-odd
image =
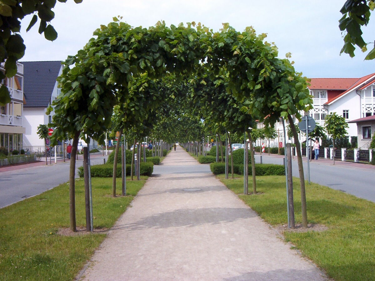
[[[77,168],[83,164],[83,156],[77,160]],[[91,164],[102,164],[108,156],[101,154],[90,157]],[[53,163],[53,161],[52,161]],[[35,196],[59,184],[69,181],[69,162],[58,161],[57,164],[34,166],[25,164],[18,169],[0,168],[0,208]],[[78,169],[76,170],[78,178]]]

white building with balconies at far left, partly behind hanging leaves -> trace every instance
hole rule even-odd
[[[0,66],[4,71],[4,64]],[[22,148],[23,134],[25,133],[23,106],[23,65],[17,63],[17,74],[12,78],[6,78],[2,84],[9,90],[11,101],[0,106],[0,146],[8,152]]]

